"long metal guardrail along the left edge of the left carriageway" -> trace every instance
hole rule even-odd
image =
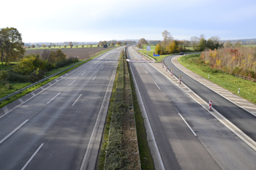
[[[103,54],[105,54],[105,53],[103,53]],[[103,55],[103,54],[101,54],[101,55]],[[99,55],[99,56],[101,56],[101,55]],[[99,56],[98,56],[98,57],[99,57]],[[50,76],[48,76],[48,77],[45,77],[44,79],[39,80],[38,82],[34,82],[33,84],[26,86],[26,88],[21,88],[20,90],[15,91],[14,93],[11,93],[11,94],[9,94],[9,95],[7,95],[7,96],[4,96],[3,98],[0,98],[0,103],[1,103],[1,101],[6,100],[7,98],[10,98],[10,97],[12,97],[12,96],[15,96],[15,95],[18,94],[18,93],[23,92],[23,90],[26,90],[26,89],[28,89],[28,88],[31,88],[31,87],[33,87],[34,85],[39,84],[40,82],[44,82],[45,80],[50,79],[50,77],[54,77],[54,76],[56,76],[56,75],[58,75],[58,74],[60,74],[60,73],[62,73],[62,72],[67,71],[68,69],[71,69],[73,66],[77,66],[77,65],[80,64],[80,63],[89,61],[91,58],[94,58],[94,57],[95,57],[95,55],[92,56],[92,57],[90,57],[90,58],[88,58],[88,59],[86,59],[86,60],[84,60],[84,61],[80,61],[79,63],[75,63],[74,65],[69,66],[69,67],[66,68],[66,69],[63,69],[63,70],[61,70],[61,71],[59,71],[59,72],[56,72],[55,74],[52,74],[52,75],[50,75]]]

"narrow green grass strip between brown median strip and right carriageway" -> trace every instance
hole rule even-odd
[[[129,65],[128,65],[129,66]],[[129,70],[129,79],[132,86],[132,99],[133,99],[133,108],[135,109],[135,122],[138,136],[138,145],[140,151],[140,166],[142,170],[153,170],[154,161],[151,156],[150,149],[148,147],[146,128],[144,125],[144,120],[140,112],[140,106],[138,103],[138,98],[135,93],[135,85],[132,80],[132,74]]]

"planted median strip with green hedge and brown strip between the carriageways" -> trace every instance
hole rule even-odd
[[[118,63],[98,169],[140,169],[131,82],[124,52]]]

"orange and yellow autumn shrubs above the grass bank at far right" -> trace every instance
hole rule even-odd
[[[205,50],[200,55],[201,61],[212,68],[229,74],[241,74],[256,78],[256,48],[222,48]]]

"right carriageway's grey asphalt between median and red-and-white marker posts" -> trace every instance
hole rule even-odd
[[[140,60],[131,47],[128,53],[129,58]],[[148,139],[157,169],[256,169],[255,150],[150,63],[130,66],[157,142],[159,155]]]

